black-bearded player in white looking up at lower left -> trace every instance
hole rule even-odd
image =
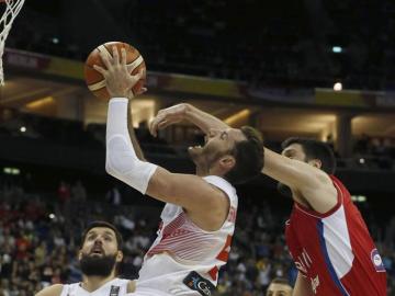
[[[105,221],[94,221],[82,235],[78,258],[83,275],[81,283],[56,284],[36,296],[124,296],[135,291],[135,282],[116,277],[122,261],[122,236]]]

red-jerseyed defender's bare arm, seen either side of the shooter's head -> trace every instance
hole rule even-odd
[[[169,125],[189,121],[205,134],[210,128],[228,126],[215,116],[203,112],[191,104],[182,103],[158,112],[150,124],[150,133],[156,136],[159,129]],[[264,148],[264,167],[262,173],[290,186],[302,195],[319,213],[326,213],[337,203],[337,192],[330,178],[321,170],[303,161],[290,159]]]

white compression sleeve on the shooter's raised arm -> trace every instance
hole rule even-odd
[[[127,105],[128,100],[125,98],[110,100],[105,135],[105,170],[145,194],[158,166],[137,158],[127,129]]]

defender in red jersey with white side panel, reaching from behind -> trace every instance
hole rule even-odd
[[[262,172],[279,181],[294,207],[286,243],[298,270],[294,296],[386,296],[386,272],[350,193],[332,174],[324,143],[290,138],[282,155],[264,149]]]

